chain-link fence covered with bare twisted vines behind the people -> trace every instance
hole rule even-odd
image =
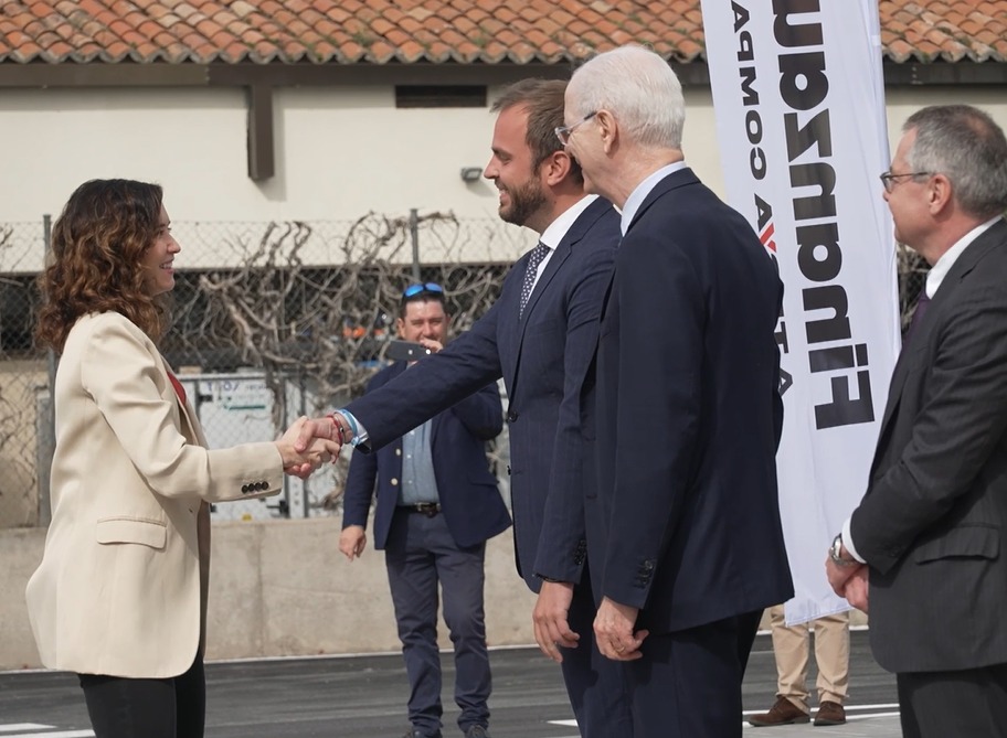
[[[445,288],[453,332],[496,299],[527,229],[451,214],[369,214],[353,222],[174,223],[171,329],[161,349],[213,447],[268,440],[303,414],[363,391],[394,334],[405,285]],[[45,524],[55,362],[32,344],[47,218],[0,224],[0,527]],[[899,261],[903,319],[925,264]],[[506,466],[505,435],[492,445]],[[218,517],[337,514],[349,450],[278,500],[220,505]],[[499,473],[505,495],[507,475]]]

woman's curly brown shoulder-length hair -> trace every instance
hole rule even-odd
[[[89,312],[118,312],[155,341],[165,310],[147,295],[140,265],[157,239],[163,191],[132,180],[92,180],[76,189],[53,226],[49,266],[39,276],[43,306],[35,338],[63,351]]]

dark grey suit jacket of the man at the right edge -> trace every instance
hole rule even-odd
[[[892,374],[850,535],[892,672],[1007,663],[1007,223],[969,244]]]

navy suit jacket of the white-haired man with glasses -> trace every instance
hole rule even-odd
[[[602,596],[667,633],[789,599],[775,452],[775,266],[685,169],[629,225],[603,308],[589,561]],[[596,383],[596,384],[595,384]]]

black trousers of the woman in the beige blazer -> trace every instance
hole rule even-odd
[[[188,672],[172,678],[77,677],[95,738],[203,738],[206,680],[202,655]]]

